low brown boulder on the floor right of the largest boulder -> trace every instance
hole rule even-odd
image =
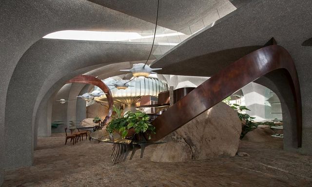
[[[275,134],[270,128],[257,128],[253,131],[247,132],[243,140],[249,140],[254,142],[267,142],[272,141],[274,138],[271,136]]]

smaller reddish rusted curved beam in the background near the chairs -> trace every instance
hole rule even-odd
[[[113,101],[112,93],[111,93],[110,89],[107,87],[107,85],[105,83],[103,83],[100,79],[98,79],[98,78],[96,78],[94,76],[78,75],[78,76],[70,79],[69,81],[67,81],[66,84],[68,84],[68,83],[75,83],[75,82],[76,83],[86,83],[86,84],[95,85],[98,88],[100,88],[104,93],[107,93],[106,97],[107,97],[108,106],[109,106],[109,111],[108,111],[107,117],[108,118],[111,117],[111,115],[113,113],[114,101]]]

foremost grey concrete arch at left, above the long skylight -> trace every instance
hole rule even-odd
[[[137,28],[149,30],[154,27],[153,24],[141,19],[129,17],[85,0],[1,0],[0,13],[0,108],[3,109],[0,110],[0,128],[4,130],[4,109],[11,76],[20,57],[41,37],[66,29],[105,28],[112,31],[128,31],[137,30]],[[129,24],[130,21],[131,24]],[[36,73],[33,72],[33,74]],[[20,125],[19,122],[12,123]],[[4,142],[9,141],[4,134],[6,134],[4,131],[0,131],[0,150],[4,150],[6,147]],[[5,151],[0,153],[1,160],[3,160],[3,152]],[[11,157],[12,159],[14,160],[14,157]],[[30,162],[25,163],[30,164]],[[10,167],[15,166],[19,164]],[[0,173],[2,173],[2,168],[0,165]]]

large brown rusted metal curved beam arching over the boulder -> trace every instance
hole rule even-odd
[[[152,135],[150,141],[161,139],[250,82],[279,69],[286,70],[288,80],[285,81],[288,81],[292,88],[297,143],[298,147],[301,147],[302,111],[298,75],[292,57],[286,49],[278,45],[263,47],[240,58],[176,102],[152,122],[156,127],[156,134]]]

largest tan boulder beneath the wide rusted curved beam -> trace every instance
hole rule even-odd
[[[180,162],[220,155],[234,156],[239,144],[241,122],[231,107],[220,102],[169,134],[154,150],[155,162]]]

